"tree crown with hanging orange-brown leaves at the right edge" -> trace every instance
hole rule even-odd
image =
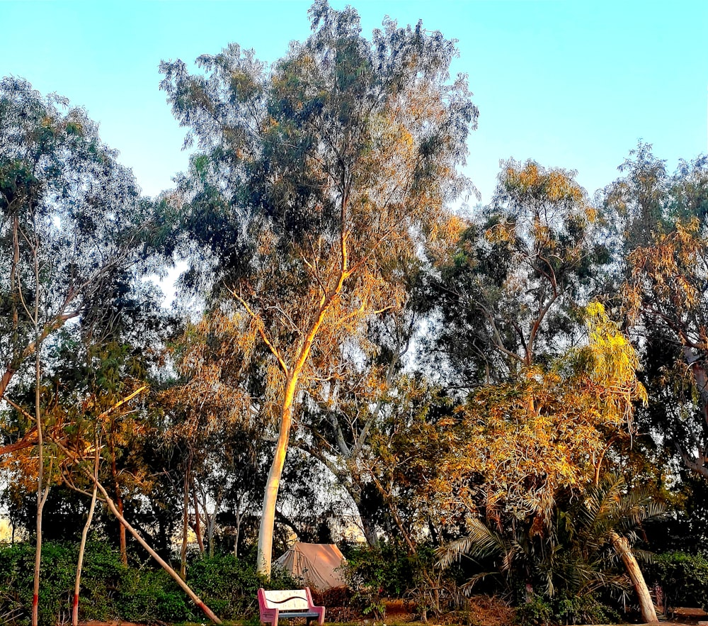
[[[640,144],[604,190],[619,291],[650,392],[646,430],[708,476],[708,159],[666,163]]]

